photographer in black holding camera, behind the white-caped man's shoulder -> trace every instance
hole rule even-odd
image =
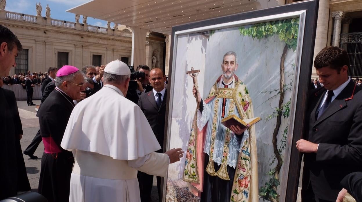
[[[133,66],[129,66],[129,68],[131,70],[131,81],[126,98],[137,104],[141,94],[152,90],[152,86],[149,85],[150,68],[147,65],[138,65],[137,71],[134,70]]]

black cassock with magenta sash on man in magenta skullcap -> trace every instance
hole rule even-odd
[[[40,134],[44,144],[39,193],[49,202],[69,200],[73,154],[62,149],[60,143],[74,108],[73,100],[57,88],[39,108]]]

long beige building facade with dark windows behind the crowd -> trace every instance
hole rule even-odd
[[[23,51],[10,75],[45,72],[49,67],[107,64],[122,60],[131,65],[132,33],[86,23],[31,16],[0,10],[0,24],[19,38]]]

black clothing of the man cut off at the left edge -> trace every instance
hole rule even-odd
[[[22,125],[13,91],[0,87],[0,200],[30,190],[18,135]]]

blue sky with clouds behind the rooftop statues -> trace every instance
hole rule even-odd
[[[5,10],[36,16],[37,12],[35,11],[35,4],[40,2],[43,8],[42,16],[45,16],[45,8],[46,5],[49,4],[51,18],[75,22],[75,15],[66,12],[66,10],[89,1],[90,0],[7,0]],[[82,19],[83,16],[80,17],[79,22],[82,22]],[[89,25],[107,27],[106,21],[91,17],[87,18],[87,23]]]

